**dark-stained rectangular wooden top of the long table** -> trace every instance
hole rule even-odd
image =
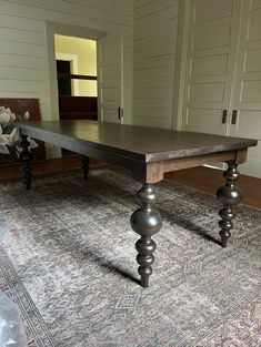
[[[257,140],[122,125],[97,121],[16,122],[24,134],[66,146],[79,141],[143,162],[202,155],[255,146]]]

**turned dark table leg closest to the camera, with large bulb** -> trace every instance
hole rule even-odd
[[[141,286],[149,286],[149,276],[152,274],[151,265],[154,262],[153,252],[155,243],[151,236],[158,233],[161,228],[161,215],[153,207],[155,194],[151,184],[143,184],[142,188],[137,193],[141,207],[137,210],[130,218],[132,229],[141,237],[135,243],[138,251],[137,262],[140,265],[138,273],[141,276]]]

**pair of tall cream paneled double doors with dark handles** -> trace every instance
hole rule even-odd
[[[261,140],[261,0],[190,0],[183,130]],[[241,172],[261,177],[261,142]]]

